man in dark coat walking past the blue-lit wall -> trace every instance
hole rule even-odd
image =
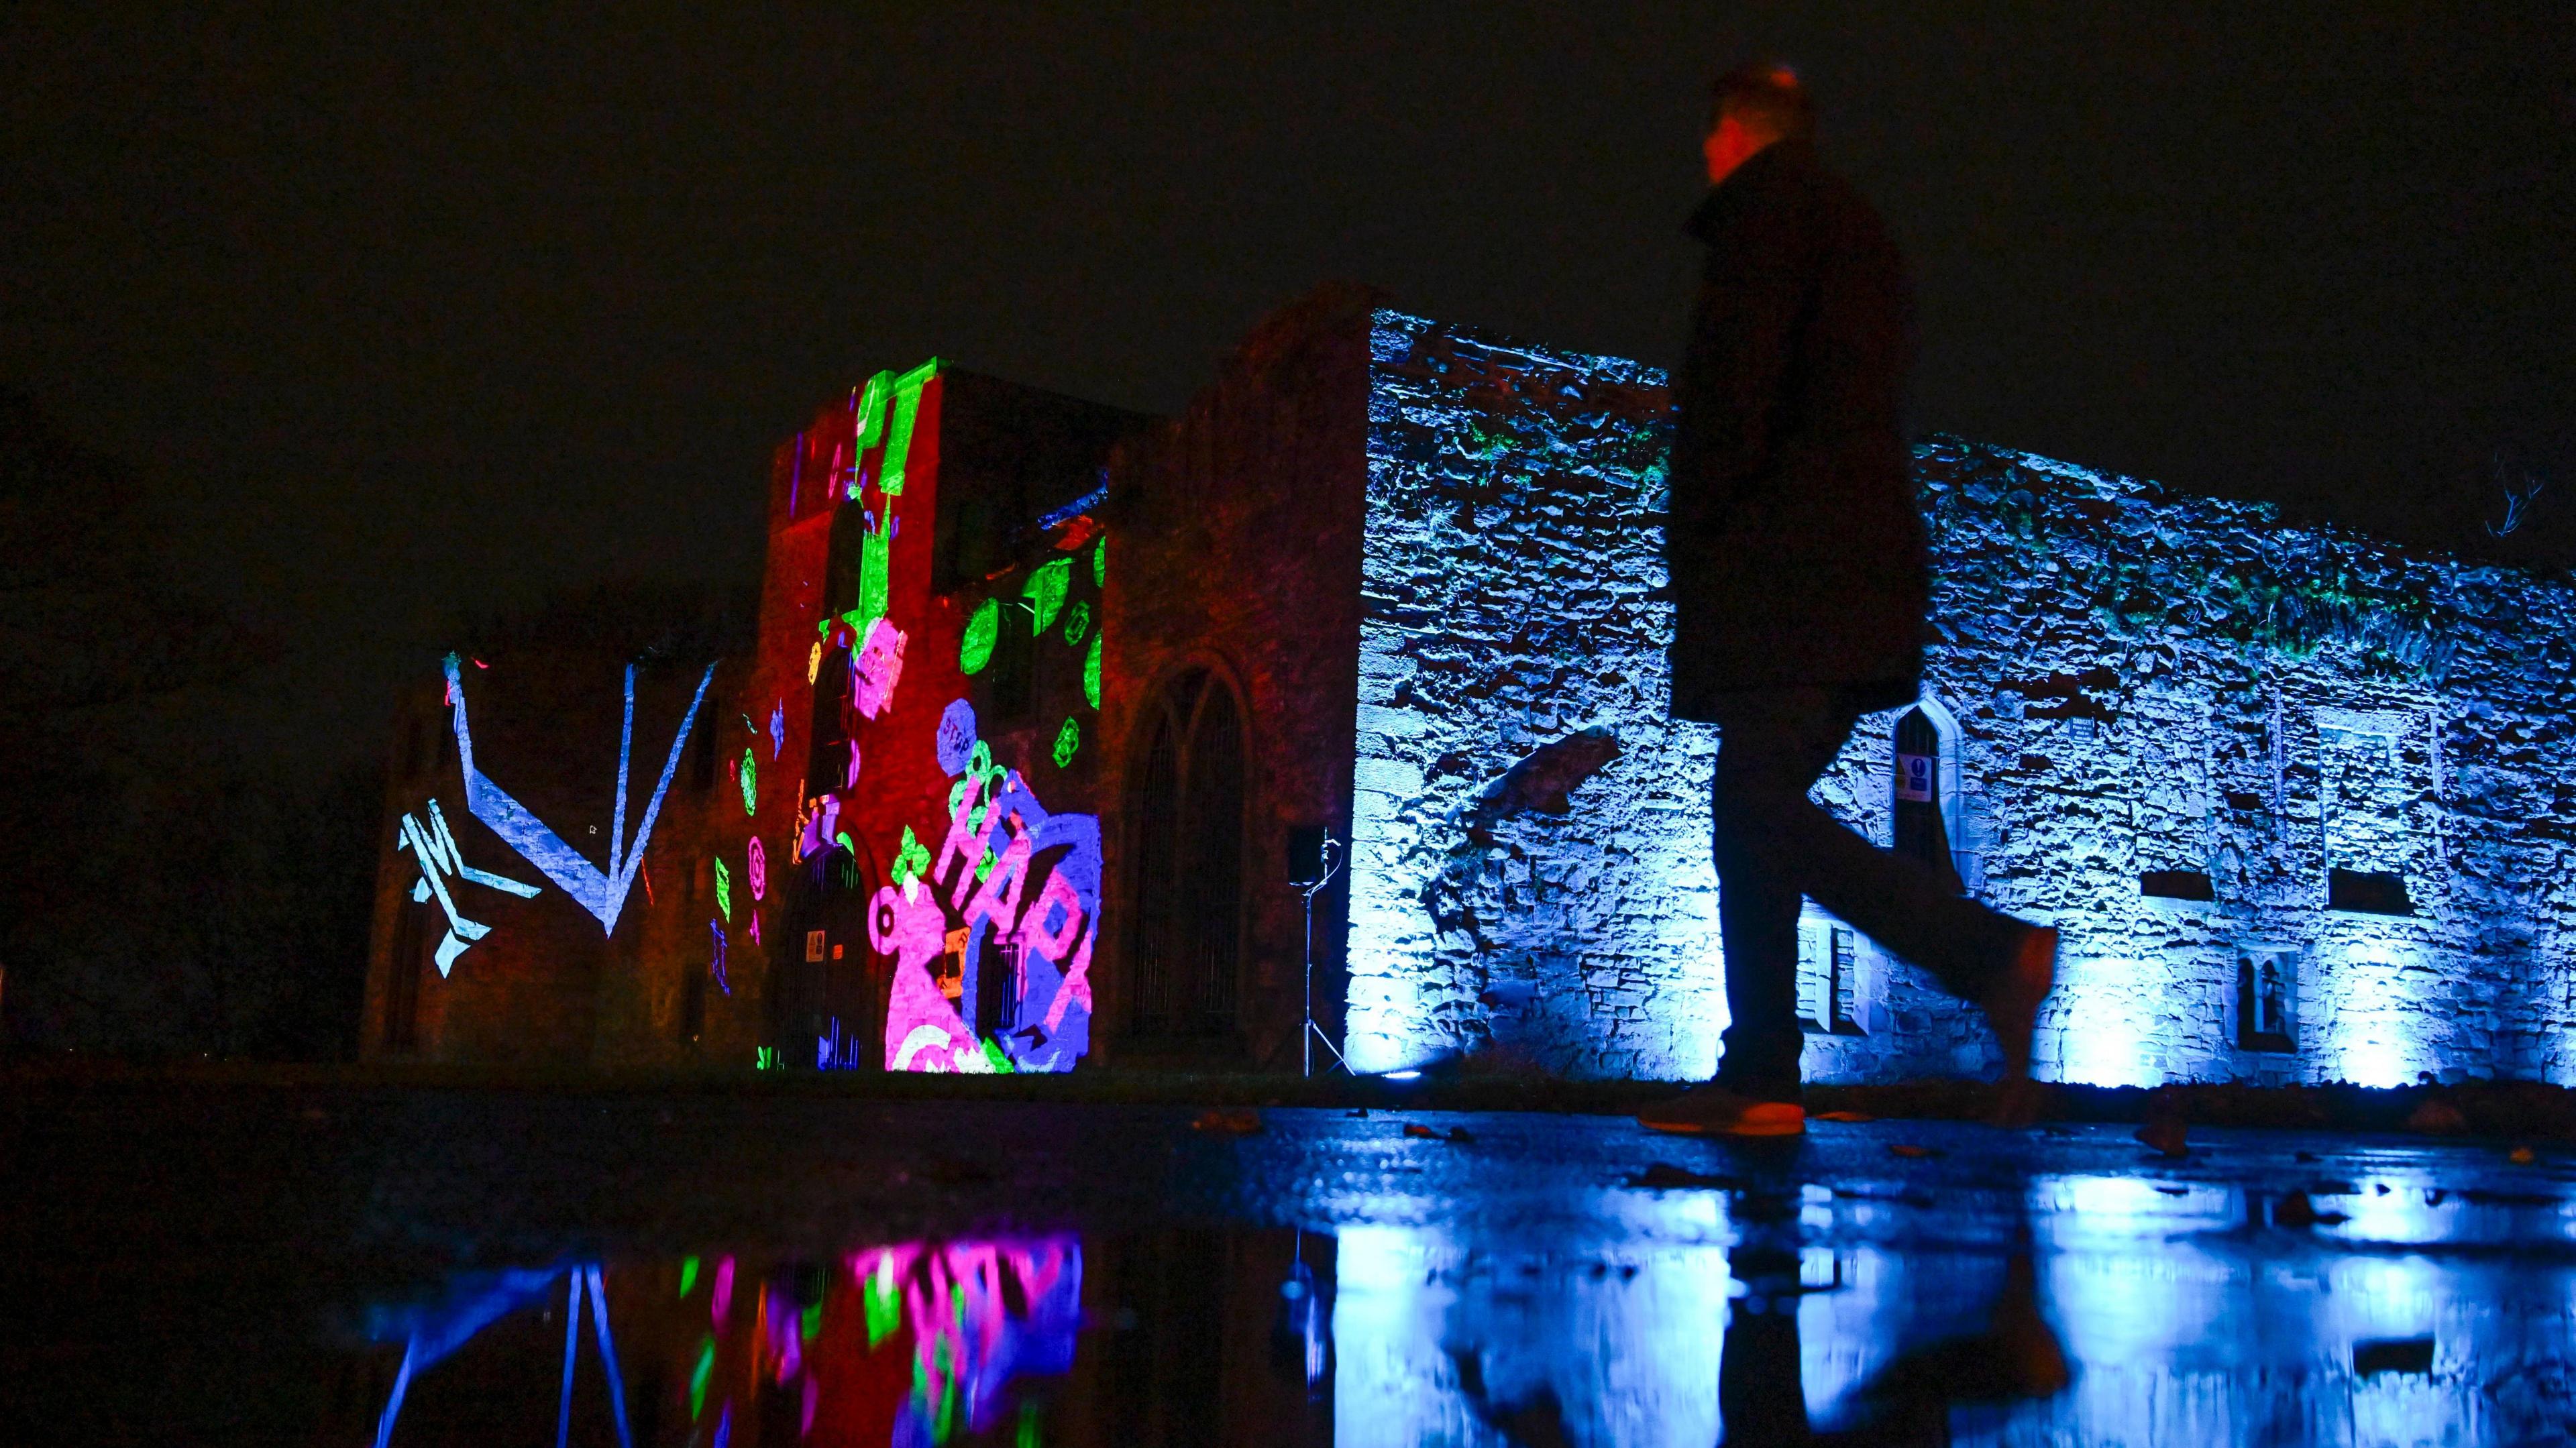
[[[1785,67],[1716,82],[1708,271],[1677,376],[1672,714],[1718,727],[1718,933],[1734,1023],[1718,1080],[1638,1113],[1659,1131],[1790,1136],[1798,897],[1986,1007],[2007,1080],[2056,979],[2058,935],[1960,897],[1958,876],[1808,799],[1862,714],[1914,703],[1929,593],[1901,425],[1911,299],[1886,224],[1824,170]]]

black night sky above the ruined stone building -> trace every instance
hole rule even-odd
[[[337,752],[459,605],[747,577],[768,446],[878,366],[1172,410],[1324,278],[1669,361],[1752,52],[1909,247],[1922,428],[2576,495],[2563,0],[314,10],[5,10],[0,381],[173,484]]]

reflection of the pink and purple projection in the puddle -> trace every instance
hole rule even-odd
[[[1002,1417],[1012,1378],[1074,1366],[1082,1324],[1074,1237],[868,1247],[850,1255],[850,1275],[871,1337],[878,1324],[891,1332],[896,1299],[912,1332],[912,1396],[896,1417],[896,1443],[984,1433]]]

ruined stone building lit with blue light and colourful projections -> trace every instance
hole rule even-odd
[[[881,374],[773,461],[744,657],[425,665],[368,1049],[1293,1069],[1321,830],[1352,1069],[1703,1077],[1664,448],[1654,368],[1350,289],[1172,420]],[[1924,696],[1819,796],[2066,933],[2043,1074],[2576,1077],[2576,590],[1955,438],[1919,477]],[[1814,1080],[1994,1067],[1803,940]]]

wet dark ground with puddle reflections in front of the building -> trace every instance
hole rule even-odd
[[[18,1443],[2568,1443],[2576,1159],[28,1090]]]

